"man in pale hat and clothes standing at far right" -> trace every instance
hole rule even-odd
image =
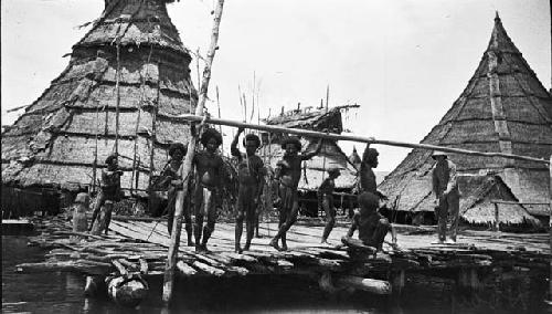
[[[456,243],[458,229],[458,211],[460,195],[458,191],[456,165],[448,160],[445,151],[435,150],[432,155],[435,166],[432,169],[433,192],[435,193],[436,213],[438,220],[438,243],[445,243],[447,216],[450,214],[450,240],[446,243]]]

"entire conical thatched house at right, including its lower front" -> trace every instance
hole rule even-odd
[[[548,160],[552,154],[552,97],[506,33],[500,18],[482,59],[458,100],[422,144],[517,154]],[[413,149],[379,189],[397,220],[434,219],[431,150]],[[450,154],[457,165],[464,222],[528,226],[549,216],[550,174],[545,164]],[[539,205],[541,202],[542,205]]]

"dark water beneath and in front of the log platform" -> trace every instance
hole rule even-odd
[[[13,272],[18,263],[43,259],[44,251],[28,247],[25,237],[2,237],[2,313],[552,313],[539,302],[545,289],[542,280],[499,286],[505,289],[500,294],[495,289],[465,297],[452,280],[415,275],[407,276],[400,300],[363,293],[329,295],[316,281],[299,276],[193,279],[178,282],[170,308],[160,299],[161,280],[149,280],[148,299],[138,308],[124,308],[105,297],[86,299],[81,275]]]

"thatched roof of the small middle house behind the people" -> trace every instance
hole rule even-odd
[[[325,109],[291,111],[267,119],[266,124],[310,130],[329,129],[329,132],[337,134],[340,134],[343,129],[340,107],[330,108],[328,112]],[[263,146],[259,148],[259,155],[264,156],[266,163],[269,161],[272,167],[275,167],[284,155],[280,147],[282,138],[283,136],[279,134],[272,134],[272,138],[268,140],[268,134],[263,135]],[[318,139],[301,138],[301,144],[304,151],[312,151],[316,149]],[[349,163],[347,155],[336,142],[325,140],[321,153],[306,161],[306,171],[302,174],[299,189],[317,190],[322,182],[322,178],[328,177],[325,171],[330,167],[337,167],[341,170],[341,176],[336,179],[336,188],[351,189],[354,187],[357,169]]]

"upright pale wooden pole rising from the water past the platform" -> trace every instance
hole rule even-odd
[[[203,115],[203,108],[205,105],[205,100],[208,96],[208,87],[209,81],[211,80],[211,67],[213,64],[214,54],[217,49],[219,42],[219,28],[221,25],[221,17],[222,9],[224,6],[224,0],[219,0],[216,2],[216,8],[214,10],[214,19],[213,19],[213,30],[211,34],[211,45],[209,48],[209,52],[205,60],[205,67],[203,69],[203,81],[200,87],[200,96],[198,102],[198,107],[195,108],[195,115]],[[182,164],[182,181],[183,186],[188,187],[190,174],[192,172],[192,160],[195,154],[195,138],[190,138],[188,143],[188,151],[185,154],[184,163]],[[166,303],[169,303],[172,299],[172,287],[174,282],[174,269],[177,265],[177,255],[178,248],[180,244],[180,232],[182,230],[182,213],[184,207],[184,198],[188,189],[184,188],[182,191],[177,193],[176,201],[176,212],[174,212],[174,223],[172,224],[172,232],[169,245],[169,252],[167,258],[167,264],[164,269],[164,278],[163,278],[163,295],[162,300]]]

